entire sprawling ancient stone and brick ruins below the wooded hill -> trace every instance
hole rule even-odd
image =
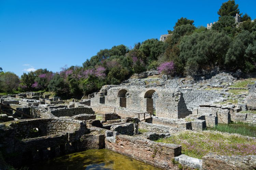
[[[194,88],[196,84],[170,88],[168,82],[160,86],[129,81],[105,85],[88,99],[72,99],[69,103],[32,92],[2,96],[1,110],[8,113],[0,115],[0,148],[5,161],[20,167],[67,153],[105,148],[161,169],[179,169],[172,160],[190,169],[256,166],[255,155],[211,154],[197,159],[181,154],[181,146],[154,141],[183,130],[202,131],[217,123],[241,121],[256,125],[255,114],[240,113],[255,109],[256,84],[248,85],[250,93],[240,95],[241,103],[234,105],[219,104],[230,95],[226,90],[229,85],[206,82],[205,86],[224,89],[217,91]],[[138,135],[139,128],[148,132]]]

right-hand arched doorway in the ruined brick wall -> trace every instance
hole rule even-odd
[[[146,91],[144,98],[146,98],[146,111],[156,115],[156,100],[158,99],[156,90],[151,89]]]

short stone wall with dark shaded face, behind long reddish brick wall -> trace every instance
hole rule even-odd
[[[110,130],[118,132],[119,134],[122,134],[122,135],[132,136],[132,135],[138,134],[138,126],[137,124],[133,124],[133,123],[113,125],[111,126]]]

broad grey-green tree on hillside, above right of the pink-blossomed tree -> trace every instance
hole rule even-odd
[[[180,43],[180,58],[185,64],[193,58],[199,66],[223,66],[231,38],[213,30],[184,36]]]

